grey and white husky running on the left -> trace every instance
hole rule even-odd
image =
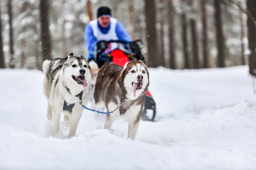
[[[91,79],[90,66],[83,55],[73,57],[70,53],[66,58],[56,58],[43,62],[45,73],[43,88],[48,101],[47,118],[52,120],[52,135],[59,131],[61,113],[69,121],[68,136],[76,134],[83,107],[89,97]]]

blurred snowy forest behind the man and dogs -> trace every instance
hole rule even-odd
[[[87,56],[85,25],[103,5],[133,40],[143,40],[150,67],[226,67],[256,58],[255,0],[1,0],[0,68],[41,69],[45,59]]]

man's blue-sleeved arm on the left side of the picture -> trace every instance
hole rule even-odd
[[[85,45],[88,50],[88,60],[93,59],[94,49],[97,43],[97,39],[93,35],[92,26],[87,24],[85,26]]]

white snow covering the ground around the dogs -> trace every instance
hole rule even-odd
[[[135,141],[125,119],[84,110],[76,136],[50,136],[43,72],[0,69],[0,170],[255,170],[256,97],[248,66],[149,68],[155,122]],[[90,104],[89,104],[90,105]]]

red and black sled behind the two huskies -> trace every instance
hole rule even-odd
[[[111,43],[117,43],[118,48],[113,50],[110,54],[104,54],[104,51],[109,48]],[[126,62],[130,61],[141,61],[145,63],[144,56],[141,54],[141,49],[143,47],[144,44],[141,40],[132,42],[124,42],[120,40],[99,41],[97,43],[97,52],[94,57],[94,62],[97,63],[99,68],[103,65],[112,63],[123,67]],[[154,121],[155,116],[155,101],[150,92],[147,91],[141,119],[145,121]]]

